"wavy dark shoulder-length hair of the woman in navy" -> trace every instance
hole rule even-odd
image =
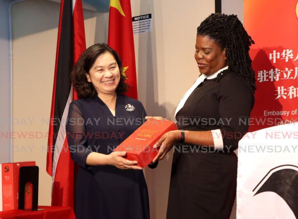
[[[80,56],[79,60],[75,63],[73,70],[70,74],[72,85],[77,92],[79,98],[88,98],[97,96],[97,91],[91,82],[88,82],[86,73],[89,74],[91,67],[94,65],[97,57],[101,54],[111,53],[120,70],[120,81],[116,88],[117,93],[125,93],[129,86],[125,83],[125,76],[122,75],[123,67],[117,52],[105,43],[97,43],[86,49]]]

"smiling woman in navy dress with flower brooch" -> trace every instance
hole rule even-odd
[[[146,116],[140,101],[121,94],[128,85],[118,54],[104,43],[93,45],[71,76],[79,97],[69,106],[66,124],[71,158],[79,165],[76,218],[149,219],[142,168],[125,159],[125,152],[113,152]]]

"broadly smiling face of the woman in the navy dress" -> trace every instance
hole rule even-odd
[[[115,93],[120,81],[120,70],[114,56],[110,52],[101,54],[86,73],[98,94],[110,95]]]

